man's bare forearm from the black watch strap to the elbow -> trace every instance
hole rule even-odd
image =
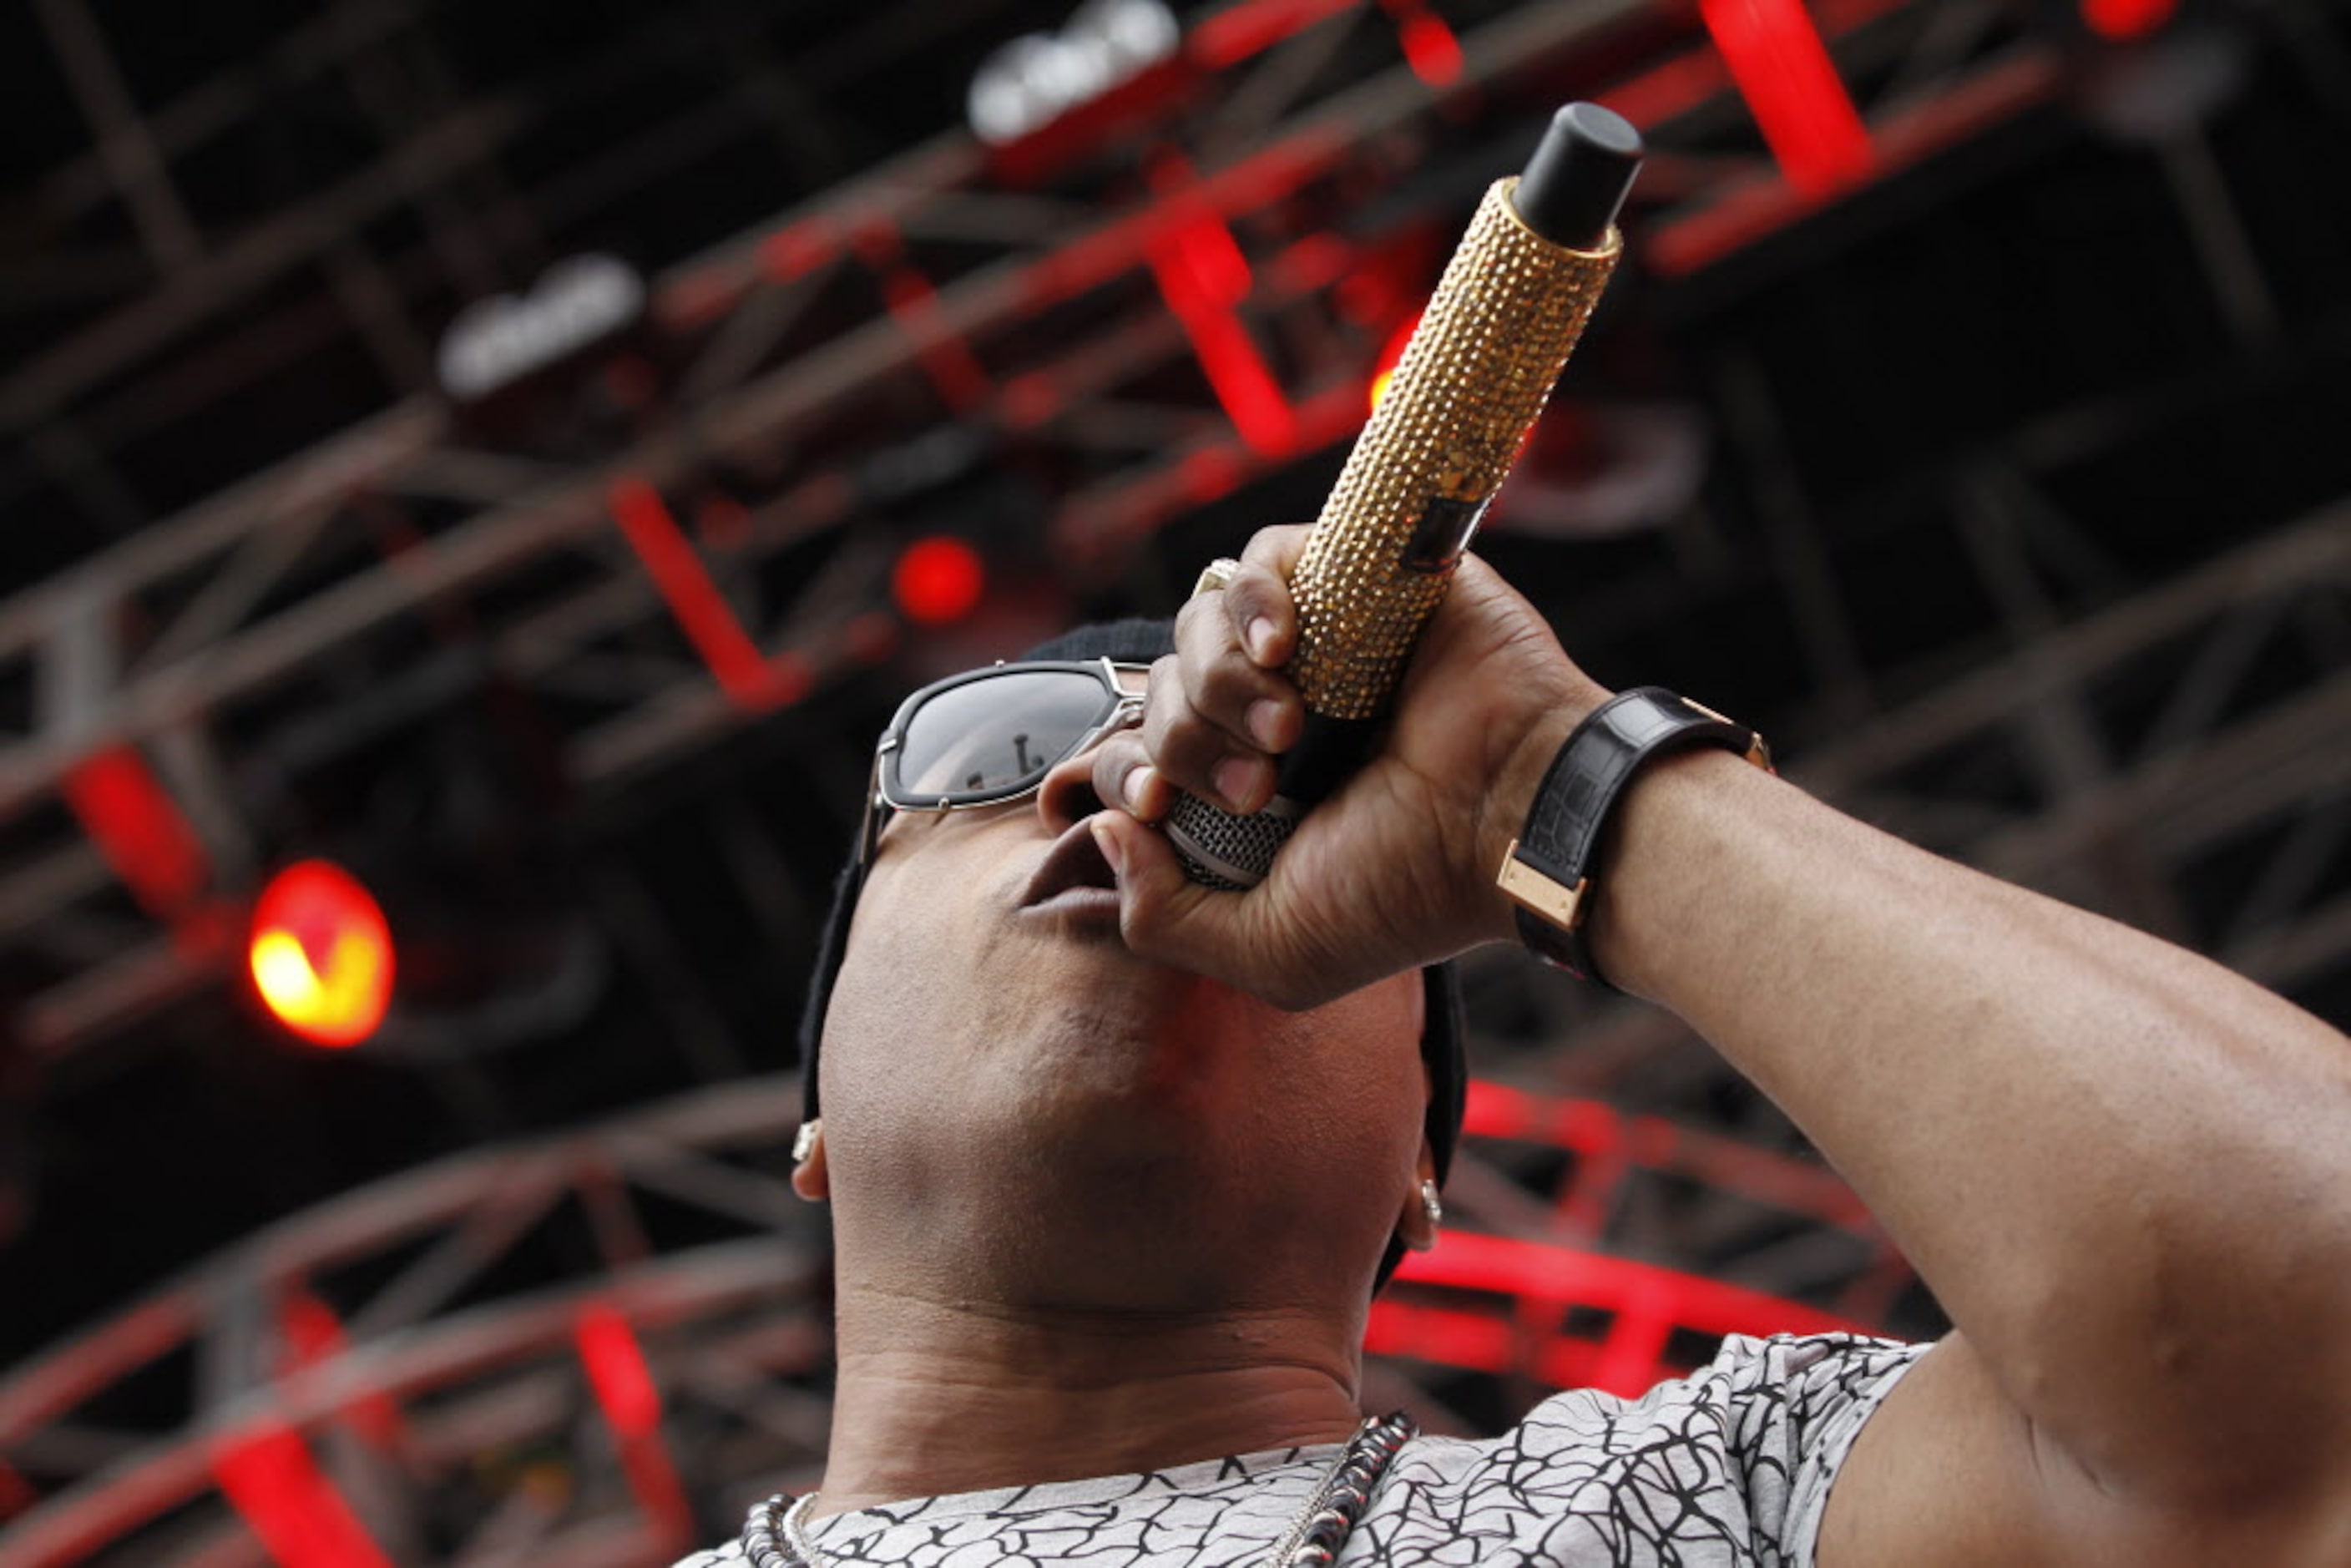
[[[1615,832],[1603,969],[1815,1138],[2074,1460],[2182,1502],[2342,1462],[2339,1032],[1728,755]]]

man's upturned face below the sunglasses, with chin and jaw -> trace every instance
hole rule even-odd
[[[1138,959],[1096,809],[1079,755],[884,823],[820,1065],[844,1272],[1063,1305],[1368,1284],[1425,1175],[1418,976],[1284,1013]]]

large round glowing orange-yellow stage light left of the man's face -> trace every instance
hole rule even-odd
[[[299,860],[261,889],[247,966],[270,1018],[320,1046],[355,1046],[393,999],[393,931],[360,879]]]

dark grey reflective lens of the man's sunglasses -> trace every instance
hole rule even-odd
[[[919,802],[1034,783],[1107,708],[1103,682],[1084,670],[1006,670],[940,691],[905,729],[898,795]]]

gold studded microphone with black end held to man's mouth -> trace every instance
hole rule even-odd
[[[1232,816],[1180,795],[1164,830],[1192,882],[1265,879],[1307,806],[1368,755],[1422,623],[1542,414],[1622,254],[1641,134],[1599,103],[1552,115],[1526,172],[1486,190],[1291,574],[1305,731],[1274,799]]]

